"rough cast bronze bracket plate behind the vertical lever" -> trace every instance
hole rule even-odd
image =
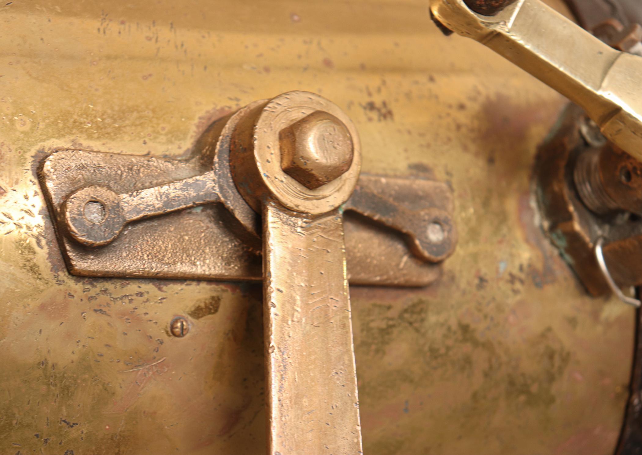
[[[40,181],[70,272],[103,277],[261,280],[260,242],[248,235],[223,204],[132,222],[114,242],[102,247],[76,242],[57,222],[65,197],[79,188],[103,185],[123,194],[198,176],[204,170],[200,157],[176,160],[78,149],[49,155],[40,168]],[[356,199],[361,203],[355,204]],[[363,201],[369,206],[363,208]],[[350,283],[426,286],[435,281],[440,265],[417,254],[407,235],[412,231],[415,237],[424,235],[418,232],[428,229],[421,215],[435,210],[453,213],[453,194],[446,183],[361,174],[358,188],[345,204]],[[372,211],[393,217],[391,211],[406,211],[416,216],[405,229],[392,229],[377,222]],[[456,243],[451,218],[442,226],[452,239],[445,253],[450,254]]]

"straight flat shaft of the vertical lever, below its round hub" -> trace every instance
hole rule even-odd
[[[354,454],[361,434],[338,210],[263,210],[268,454]]]

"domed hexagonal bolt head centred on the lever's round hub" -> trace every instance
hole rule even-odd
[[[350,131],[324,111],[315,111],[282,129],[279,145],[281,168],[310,190],[342,176],[354,157]]]

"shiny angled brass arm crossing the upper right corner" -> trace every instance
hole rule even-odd
[[[517,0],[495,15],[464,0],[430,0],[459,35],[490,47],[582,106],[603,135],[642,161],[642,58],[612,49],[539,0]]]

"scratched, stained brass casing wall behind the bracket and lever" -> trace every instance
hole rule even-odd
[[[437,285],[351,289],[365,453],[614,449],[634,312],[587,297],[530,199],[564,100],[426,2],[14,0],[0,49],[0,453],[261,453],[260,286],[70,276],[35,169],[54,147],[186,156],[293,89],[351,116],[365,172],[455,188]]]

